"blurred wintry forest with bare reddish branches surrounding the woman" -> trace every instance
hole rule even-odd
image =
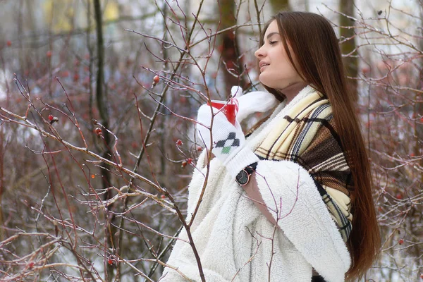
[[[190,229],[192,119],[262,89],[262,23],[292,9],[331,20],[359,98],[383,235],[362,281],[423,281],[422,7],[0,0],[0,280],[157,281]]]

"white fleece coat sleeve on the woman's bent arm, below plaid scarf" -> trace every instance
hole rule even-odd
[[[293,161],[259,161],[259,192],[286,237],[326,281],[345,281],[350,255],[312,177]]]

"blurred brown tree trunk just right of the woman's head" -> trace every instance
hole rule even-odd
[[[340,0],[339,1],[339,11],[347,16],[354,15],[354,1],[353,0]],[[340,25],[340,35],[341,38],[350,38],[355,35],[354,28],[346,28],[346,27],[353,27],[354,22],[345,16],[340,16],[339,25]],[[358,59],[357,59],[357,51],[354,51],[356,48],[355,44],[355,37],[348,39],[348,41],[343,42],[341,44],[341,51],[342,54],[350,54],[348,57],[343,58],[343,63],[345,66],[345,71],[350,78],[357,78],[358,75]],[[353,53],[352,53],[353,52]],[[349,86],[351,92],[353,92],[355,100],[358,99],[357,94],[357,80],[350,79]]]

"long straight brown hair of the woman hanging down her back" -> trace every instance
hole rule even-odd
[[[355,113],[355,96],[348,89],[338,39],[324,17],[315,13],[287,11],[269,20],[260,36],[260,47],[264,44],[267,27],[274,20],[278,23],[283,46],[295,70],[305,82],[326,95],[331,103],[354,180],[354,190],[350,194],[353,230],[347,242],[352,265],[347,276],[348,279],[361,277],[376,259],[381,235],[374,210],[369,159]],[[288,44],[296,56],[297,65]],[[266,90],[279,100],[285,98],[278,90],[270,87]]]

